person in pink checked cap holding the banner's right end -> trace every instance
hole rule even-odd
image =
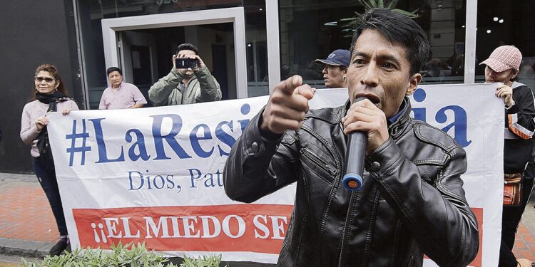
[[[509,190],[504,190],[504,209],[501,216],[501,247],[499,266],[535,266],[526,258],[516,259],[512,250],[516,229],[524,213],[524,208],[531,194],[534,179],[533,135],[535,130],[534,96],[530,88],[518,83],[522,54],[514,46],[499,46],[485,64],[486,83],[504,83],[496,89],[495,95],[505,103],[505,140],[504,140],[504,174],[506,177],[521,179],[519,197],[510,197]],[[528,165],[526,169],[526,165]],[[531,173],[531,174],[529,174]]]

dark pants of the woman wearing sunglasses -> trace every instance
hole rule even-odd
[[[34,159],[34,171],[39,180],[39,184],[43,188],[46,198],[49,199],[52,213],[58,225],[60,236],[67,234],[67,224],[65,223],[65,215],[63,215],[63,206],[61,205],[61,197],[59,197],[58,181],[56,180],[56,171],[54,166],[46,169],[39,159]]]

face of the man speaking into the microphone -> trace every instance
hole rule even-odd
[[[347,87],[351,102],[365,97],[384,112],[397,114],[405,95],[412,95],[422,75],[409,75],[410,63],[399,43],[390,43],[376,30],[361,33],[347,69]]]

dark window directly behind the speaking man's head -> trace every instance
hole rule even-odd
[[[398,1],[396,8],[416,11],[414,20],[428,33],[431,53],[422,68],[423,83],[463,83],[464,1],[407,0]],[[281,78],[284,78],[282,73],[299,74],[306,83],[325,88],[322,66],[314,60],[325,58],[336,49],[350,48],[352,26],[349,24],[355,12],[365,12],[360,1],[280,1]]]

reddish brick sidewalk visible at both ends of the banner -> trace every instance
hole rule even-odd
[[[0,240],[47,244],[58,239],[58,229],[46,196],[34,175],[0,174]],[[526,206],[514,246],[517,258],[535,259],[535,194]],[[4,266],[0,263],[0,266]]]

